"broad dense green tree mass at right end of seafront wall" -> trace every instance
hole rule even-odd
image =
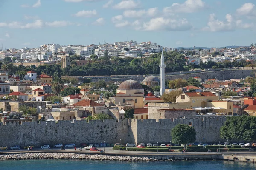
[[[240,139],[248,142],[256,140],[255,116],[231,116],[220,129],[222,139]]]

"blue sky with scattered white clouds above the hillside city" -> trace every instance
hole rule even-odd
[[[104,41],[256,43],[255,0],[0,0],[0,49]]]

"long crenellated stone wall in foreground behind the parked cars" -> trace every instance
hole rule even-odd
[[[86,121],[23,122],[0,124],[0,145],[19,144],[21,146],[44,144],[75,143],[169,143],[171,130],[177,124],[192,123],[197,132],[197,142],[216,142],[220,140],[219,129],[226,120],[225,116],[189,116],[188,118],[160,119],[121,119]]]

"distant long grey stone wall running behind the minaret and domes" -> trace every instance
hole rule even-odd
[[[166,73],[165,79],[189,79],[189,77],[198,76],[202,80],[205,79],[218,79],[218,80],[227,80],[227,79],[242,79],[248,76],[254,75],[255,70],[247,69],[228,69],[228,70],[216,70],[216,71],[181,71],[181,72],[172,72]],[[160,77],[160,74],[154,74],[156,77]],[[91,78],[92,82],[98,82],[99,80],[103,81],[114,81],[114,82],[123,82],[128,79],[135,80],[137,82],[142,82],[143,79],[148,75],[113,75],[113,76],[84,76],[76,77],[79,82],[83,83],[85,79]],[[65,77],[63,77],[65,78]]]

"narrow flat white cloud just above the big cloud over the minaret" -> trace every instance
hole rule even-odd
[[[129,17],[129,18],[141,18],[141,17],[154,17],[155,15],[157,15],[157,13],[158,13],[158,8],[149,8],[147,11],[127,10],[127,11],[124,11],[123,15],[124,17]]]

